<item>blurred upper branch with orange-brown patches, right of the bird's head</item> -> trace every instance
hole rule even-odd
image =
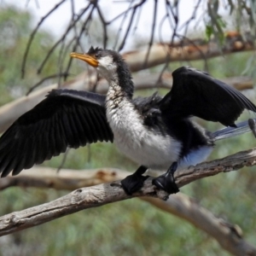
[[[131,72],[137,72],[149,67],[155,67],[166,62],[207,60],[220,55],[234,52],[254,50],[254,39],[247,34],[241,37],[239,32],[227,32],[223,47],[214,40],[207,42],[201,38],[183,39],[177,43],[153,44],[148,54],[148,48],[133,50],[124,54]],[[145,63],[147,58],[147,62]]]

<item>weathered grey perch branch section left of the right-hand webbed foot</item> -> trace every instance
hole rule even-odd
[[[164,199],[167,194],[164,191],[154,189],[152,178],[148,178],[143,189],[134,195],[126,195],[119,183],[114,185],[103,183],[89,188],[76,189],[55,201],[3,216],[0,218],[0,236],[43,224],[73,212],[91,207],[101,207],[111,202],[123,201],[138,196],[157,196]]]

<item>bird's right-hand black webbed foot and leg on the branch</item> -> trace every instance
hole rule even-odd
[[[179,191],[177,188],[177,184],[175,183],[173,173],[177,170],[177,162],[173,162],[172,166],[168,169],[168,171],[160,175],[159,177],[155,177],[152,183],[158,188],[163,189],[169,194],[175,194]]]

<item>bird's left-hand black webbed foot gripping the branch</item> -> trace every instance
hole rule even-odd
[[[144,181],[148,178],[148,176],[143,176],[143,173],[147,170],[148,167],[139,166],[136,172],[125,177],[121,181],[122,187],[126,194],[131,195],[143,187]]]

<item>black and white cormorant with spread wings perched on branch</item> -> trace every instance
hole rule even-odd
[[[132,194],[143,186],[148,168],[167,171],[154,185],[168,193],[178,191],[173,172],[195,166],[211,153],[218,139],[250,131],[247,122],[235,125],[244,109],[255,105],[238,90],[190,67],[172,73],[172,90],[133,99],[131,73],[119,53],[93,47],[72,53],[108,80],[107,96],[51,90],[35,108],[24,113],[0,138],[0,172],[18,174],[66,151],[98,141],[114,142],[140,166],[122,181]],[[221,131],[206,131],[191,117],[220,122]]]

